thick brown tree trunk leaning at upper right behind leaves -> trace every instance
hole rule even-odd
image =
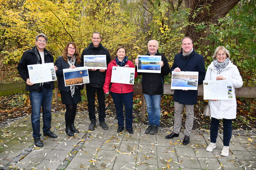
[[[226,14],[239,2],[240,0],[184,0],[187,8],[190,8],[190,15],[188,16],[188,21],[194,23],[188,25],[185,28],[185,36],[190,36],[193,42],[197,42],[200,39],[203,39],[208,36],[209,32],[207,31],[209,27],[205,29],[196,30],[195,25],[199,23],[208,23],[216,24],[220,26],[221,23],[218,23],[218,19],[226,16]],[[198,10],[201,8],[201,10]],[[196,13],[196,14],[195,14]],[[206,31],[206,32],[205,32]],[[200,45],[208,45],[210,42],[201,41]],[[194,48],[197,48],[198,44],[194,45]]]

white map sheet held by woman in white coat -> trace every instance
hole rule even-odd
[[[204,100],[233,99],[232,80],[204,80]]]

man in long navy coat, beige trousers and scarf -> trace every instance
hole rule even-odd
[[[193,49],[192,39],[184,37],[181,40],[182,51],[176,54],[171,71],[198,71],[198,84],[202,83],[205,77],[204,57],[199,55]],[[166,139],[178,137],[181,127],[181,115],[185,105],[186,107],[186,129],[184,131],[183,144],[189,143],[189,136],[194,123],[194,105],[197,102],[197,90],[174,90],[174,126],[173,132],[167,135]]]

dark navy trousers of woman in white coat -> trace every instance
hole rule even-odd
[[[220,119],[215,119],[212,117],[210,135],[211,142],[216,143],[219,130],[219,121]],[[223,119],[223,145],[229,146],[229,141],[232,134],[232,119]]]

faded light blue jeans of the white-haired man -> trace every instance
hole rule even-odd
[[[161,94],[159,95],[149,95],[144,94],[144,98],[147,104],[147,112],[148,112],[148,124],[157,125],[160,124],[160,116],[161,116]]]

